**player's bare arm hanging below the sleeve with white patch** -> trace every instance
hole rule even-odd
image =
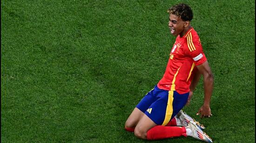
[[[213,81],[214,77],[212,71],[209,67],[209,63],[207,61],[202,64],[196,66],[198,71],[203,75],[203,85],[204,85],[204,101],[202,107],[197,112],[197,115],[201,114],[202,117],[210,117],[211,109],[210,109],[210,100],[213,91]]]

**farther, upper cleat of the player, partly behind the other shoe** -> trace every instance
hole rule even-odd
[[[178,114],[176,115],[176,118],[179,118],[182,122],[182,126],[187,126],[189,124],[190,121],[194,121],[195,124],[201,129],[205,129],[205,127],[200,124],[199,122],[195,121],[194,118],[191,118],[189,115],[187,115],[185,112],[183,112],[182,110],[180,112],[178,112]]]

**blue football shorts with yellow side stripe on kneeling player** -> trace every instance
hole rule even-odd
[[[188,97],[189,92],[179,94],[155,86],[136,107],[155,124],[166,125],[186,105]]]

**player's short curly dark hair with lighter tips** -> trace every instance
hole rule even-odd
[[[191,21],[193,19],[191,7],[184,3],[170,7],[167,12],[179,16],[183,21]]]

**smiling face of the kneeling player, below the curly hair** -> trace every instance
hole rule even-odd
[[[178,36],[180,34],[180,36],[183,36],[185,21],[183,21],[180,17],[170,14],[168,26],[172,35]]]

